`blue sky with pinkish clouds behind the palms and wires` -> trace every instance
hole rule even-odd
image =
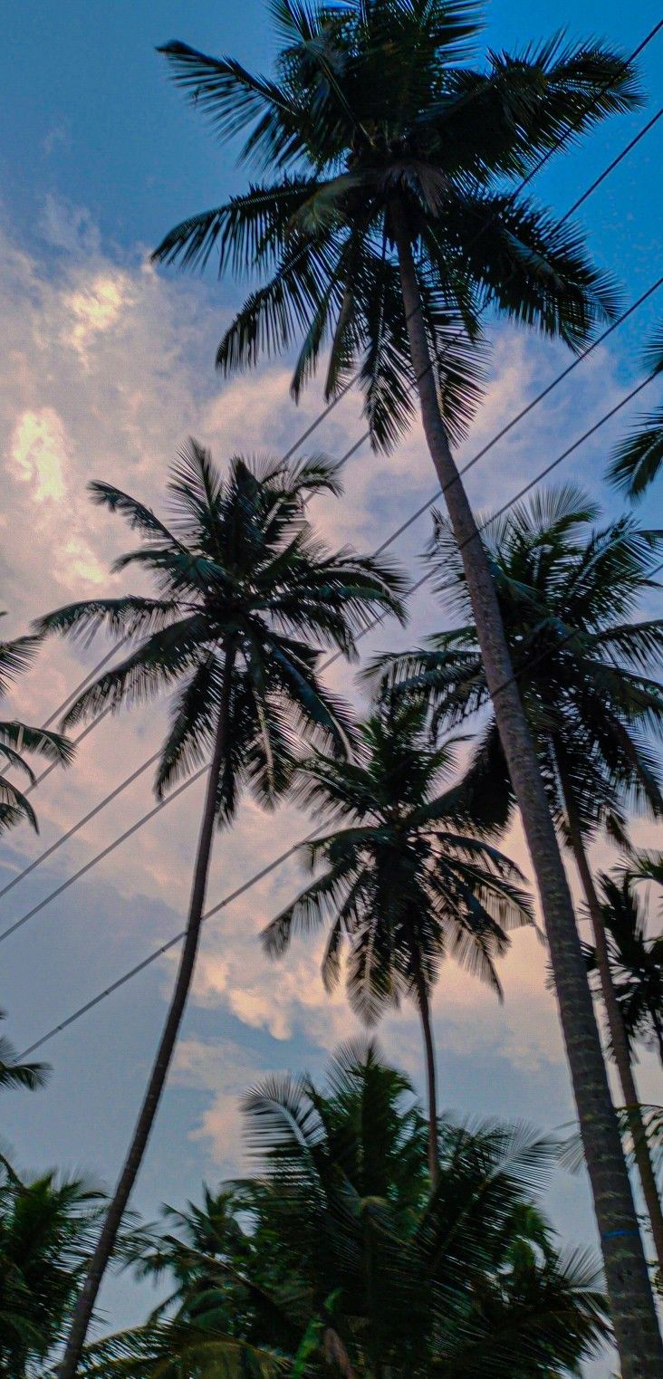
[[[522,47],[567,29],[604,36],[631,51],[659,18],[653,0],[495,0],[487,46]],[[0,84],[0,309],[6,368],[0,392],[4,503],[0,512],[0,607],[4,634],[73,597],[119,592],[112,558],[125,549],[121,524],[92,509],[85,484],[105,477],[154,505],[168,462],[187,434],[216,459],[234,452],[281,454],[316,418],[312,387],[296,408],[287,361],[222,382],[214,352],[237,290],[156,272],[149,250],[176,221],[241,189],[245,172],[219,152],[204,123],[170,84],[154,47],[171,37],[245,65],[269,69],[261,0],[32,0],[3,15],[7,55]],[[663,36],[641,62],[646,108],[608,121],[564,159],[549,164],[533,194],[564,212],[653,114],[662,98]],[[11,55],[11,57],[10,57]],[[663,121],[598,189],[579,215],[595,261],[619,279],[624,302],[660,273]],[[615,332],[471,473],[477,509],[503,502],[525,477],[571,444],[640,376],[640,350],[660,313],[660,294]],[[558,346],[491,323],[491,375],[460,458],[469,458],[568,363]],[[653,390],[651,390],[653,396]],[[635,411],[642,404],[635,405]],[[602,474],[611,444],[633,408],[560,469],[608,512],[619,505]],[[363,430],[353,394],[314,439],[343,454]],[[316,523],[332,543],[374,549],[433,491],[419,427],[389,459],[361,447],[346,470],[340,501],[318,499]],[[659,495],[660,498],[660,495]],[[659,523],[660,501],[644,507]],[[416,570],[427,520],[394,554]],[[124,585],[127,587],[127,585]],[[380,629],[365,652],[416,643],[444,625],[444,610],[422,593],[405,633]],[[48,644],[21,681],[10,714],[43,721],[106,650]],[[361,703],[346,667],[329,678]],[[165,706],[103,724],[81,743],[73,768],[54,772],[34,796],[41,834],[17,830],[0,847],[0,887],[54,843],[157,747]],[[37,905],[117,833],[150,808],[150,775],[105,808],[70,843],[0,899],[0,927]],[[91,869],[1,947],[0,1004],[18,1048],[51,1026],[182,927],[201,782],[167,805],[121,848]],[[307,832],[291,807],[265,815],[247,801],[236,827],[216,841],[210,902]],[[638,823],[642,841],[656,841]],[[516,829],[506,849],[527,867]],[[608,862],[598,849],[597,860]],[[343,992],[324,994],[321,943],[294,946],[270,965],[258,934],[302,883],[296,859],[229,905],[205,928],[193,997],[175,1069],[135,1193],[153,1218],[161,1201],[179,1205],[243,1167],[237,1096],[265,1073],[303,1067],[321,1074],[329,1051],[358,1031]],[[52,1063],[45,1091],[12,1095],[3,1136],[26,1169],[57,1164],[110,1185],[138,1110],[165,1011],[176,952],[101,1003],[44,1048]],[[557,1015],[546,990],[544,950],[532,934],[514,936],[503,965],[506,998],[451,964],[434,1000],[440,1100],[465,1116],[525,1118],[551,1129],[572,1121]],[[420,1038],[414,1011],[379,1030],[386,1054],[420,1087]],[[660,1100],[656,1069],[638,1067],[644,1099]],[[583,1176],[557,1175],[546,1198],[569,1242],[594,1242]],[[101,1299],[112,1325],[138,1320],[145,1295],[113,1280]],[[595,1371],[605,1373],[605,1365]]]

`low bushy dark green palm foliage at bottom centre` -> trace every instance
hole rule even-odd
[[[254,1175],[168,1214],[141,1260],[165,1307],[90,1347],[87,1372],[560,1379],[605,1338],[595,1269],[535,1201],[553,1145],[447,1121],[430,1194],[425,1120],[375,1045],[342,1047],[327,1087],[272,1077],[244,1109]]]

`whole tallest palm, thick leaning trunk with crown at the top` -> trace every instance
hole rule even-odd
[[[161,262],[258,276],[226,331],[225,372],[303,345],[299,394],[329,346],[325,392],[358,365],[379,447],[420,415],[467,575],[488,684],[546,916],[624,1379],[660,1369],[663,1345],[635,1231],[573,906],[499,604],[451,443],[480,383],[488,299],[572,348],[612,314],[611,283],[516,183],[536,160],[638,99],[633,66],[606,46],[561,39],[477,68],[474,0],[273,0],[276,76],[182,43],[175,79],[244,161],[269,167],[227,204],[193,215]],[[276,174],[276,177],[274,177]]]

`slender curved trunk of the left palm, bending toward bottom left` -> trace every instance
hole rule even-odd
[[[147,1139],[156,1120],[159,1103],[161,1100],[161,1094],[171,1065],[172,1054],[175,1051],[175,1043],[179,1033],[179,1026],[182,1023],[182,1016],[185,1014],[186,998],[189,996],[189,989],[192,985],[193,971],[196,965],[200,925],[203,920],[203,907],[205,903],[207,877],[210,872],[214,825],[216,819],[216,790],[219,783],[221,767],[223,763],[223,754],[226,750],[233,663],[234,663],[234,651],[232,647],[226,647],[225,662],[223,662],[223,696],[222,696],[222,703],[219,706],[219,717],[216,721],[216,734],[214,739],[212,760],[210,765],[210,776],[207,781],[205,804],[200,825],[198,848],[196,854],[196,866],[193,872],[186,935],[182,947],[182,956],[179,958],[175,989],[172,993],[168,1015],[165,1018],[165,1025],[161,1033],[157,1056],[152,1066],[147,1089],[145,1092],[143,1103],[141,1106],[131,1145],[127,1157],[124,1160],[124,1167],[120,1174],[114,1196],[106,1212],[99,1240],[96,1241],[95,1251],[90,1260],[88,1270],[85,1274],[85,1282],[83,1285],[83,1289],[79,1295],[74,1307],[72,1325],[66,1342],[65,1356],[59,1367],[59,1379],[73,1379],[73,1376],[76,1375],[76,1369],[79,1367],[79,1361],[83,1353],[83,1346],[85,1343],[87,1331],[92,1317],[92,1310],[96,1302],[96,1295],[99,1292],[103,1274],[106,1271],[108,1263],[114,1249],[117,1231],[120,1230],[121,1219],[124,1216],[124,1211],[127,1208],[131,1190],[141,1169],[145,1150],[147,1147]]]

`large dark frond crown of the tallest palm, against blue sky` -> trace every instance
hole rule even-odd
[[[393,254],[415,248],[447,429],[458,434],[481,379],[487,295],[500,312],[576,346],[615,309],[579,233],[510,183],[536,159],[638,99],[633,68],[598,43],[557,37],[476,65],[474,0],[273,0],[274,79],[183,43],[165,52],[222,142],[277,170],[225,205],[175,226],[161,262],[258,276],[226,331],[223,371],[303,338],[292,392],[329,349],[325,393],[361,368],[379,445],[414,415],[415,370]],[[441,352],[441,361],[440,361]]]

